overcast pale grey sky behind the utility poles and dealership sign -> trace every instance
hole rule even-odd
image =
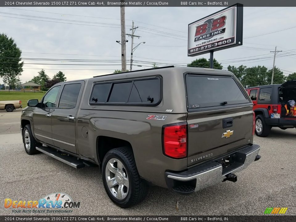
[[[130,33],[134,20],[135,26],[138,26],[135,35],[141,36],[134,43],[146,42],[134,52],[134,64],[142,67],[133,66],[133,70],[149,68],[153,62],[159,66],[186,65],[199,57],[209,58],[209,54],[187,56],[188,23],[221,9],[126,7],[126,33]],[[217,51],[214,57],[225,69],[228,65],[241,64],[248,67],[264,65],[270,69],[273,65],[273,53],[270,51],[274,51],[277,46],[282,52],[277,54],[276,66],[285,75],[296,72],[294,21],[295,7],[245,7],[243,46]],[[0,32],[13,37],[23,51],[25,65],[20,77],[22,82],[31,80],[42,68],[49,77],[61,70],[68,80],[121,69],[121,46],[116,43],[116,40],[121,39],[119,7],[1,7],[0,24]],[[127,40],[129,60],[130,37],[127,36]],[[97,61],[51,61],[55,59]],[[127,61],[127,64],[129,69],[130,62]]]

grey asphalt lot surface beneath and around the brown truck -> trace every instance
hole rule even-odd
[[[144,202],[122,209],[109,200],[98,167],[77,170],[45,154],[27,155],[20,115],[0,111],[0,215],[24,215],[4,208],[5,198],[38,200],[56,192],[81,202],[68,215],[263,215],[267,207],[287,207],[286,215],[296,215],[295,129],[255,136],[262,158],[237,173],[236,183],[221,182],[189,196],[150,187]]]

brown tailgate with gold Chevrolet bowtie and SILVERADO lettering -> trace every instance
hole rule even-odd
[[[189,113],[187,123],[190,166],[248,144],[252,137],[253,111],[246,106],[220,113]]]

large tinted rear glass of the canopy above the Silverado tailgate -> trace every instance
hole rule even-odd
[[[188,109],[249,103],[232,77],[186,75]]]

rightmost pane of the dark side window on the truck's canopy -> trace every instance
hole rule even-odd
[[[158,103],[160,100],[160,79],[134,81],[128,102]]]

